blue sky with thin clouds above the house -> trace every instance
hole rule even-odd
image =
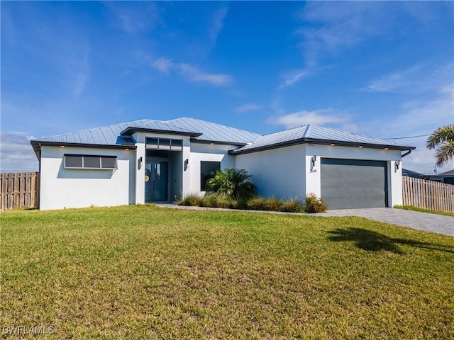
[[[188,116],[422,135],[393,141],[432,174],[453,78],[450,1],[1,1],[0,168],[37,171],[33,137]]]

